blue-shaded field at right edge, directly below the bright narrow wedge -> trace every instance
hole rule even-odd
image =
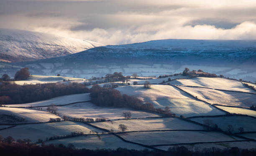
[[[212,120],[223,131],[228,131],[228,125],[233,126],[233,132],[235,133],[239,132],[239,127],[243,127],[244,131],[256,131],[256,119],[248,116],[204,117],[193,118],[191,120],[203,124],[203,121],[206,119]]]

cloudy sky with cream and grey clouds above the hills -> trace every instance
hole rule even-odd
[[[0,0],[0,27],[105,45],[256,39],[256,0]]]

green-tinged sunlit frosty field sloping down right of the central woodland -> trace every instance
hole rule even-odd
[[[185,117],[201,116],[201,115],[224,115],[225,112],[220,111],[213,106],[205,104],[194,99],[161,99],[151,101],[154,106],[164,109],[166,106],[170,107],[172,113],[177,116],[183,115]]]

